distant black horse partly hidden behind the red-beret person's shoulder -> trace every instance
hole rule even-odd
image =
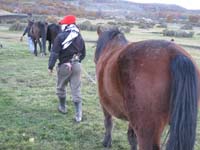
[[[53,45],[54,39],[56,38],[56,36],[60,32],[61,32],[60,25],[54,24],[54,23],[48,25],[48,27],[47,27],[47,41],[49,42],[49,47],[48,47],[49,52],[51,51],[51,47]]]

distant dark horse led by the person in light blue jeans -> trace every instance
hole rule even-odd
[[[37,43],[40,46],[40,53],[46,55],[46,36],[47,36],[46,22],[37,21],[34,22],[30,29],[30,35],[34,43],[34,54],[37,56]],[[40,41],[42,39],[42,42]]]

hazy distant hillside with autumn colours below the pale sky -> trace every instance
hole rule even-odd
[[[79,17],[126,17],[151,19],[198,15],[200,10],[187,10],[177,5],[142,4],[126,0],[1,0],[0,9],[11,13],[33,13],[63,16],[69,13]],[[1,15],[1,14],[0,14]]]

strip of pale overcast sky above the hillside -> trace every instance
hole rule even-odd
[[[163,4],[176,4],[187,9],[200,9],[199,0],[128,0],[137,3],[163,3]]]

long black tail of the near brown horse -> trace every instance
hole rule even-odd
[[[171,62],[170,135],[167,150],[193,150],[198,113],[198,78],[193,62],[177,55]]]

